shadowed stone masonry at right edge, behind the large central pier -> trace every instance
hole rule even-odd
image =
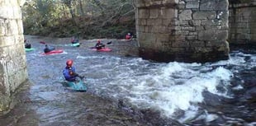
[[[229,41],[256,45],[256,0],[230,3]]]

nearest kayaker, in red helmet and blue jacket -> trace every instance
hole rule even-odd
[[[75,82],[77,80],[77,77],[80,76],[78,75],[78,73],[75,72],[75,67],[73,67],[73,60],[68,59],[66,65],[67,66],[63,70],[63,75],[66,81]]]

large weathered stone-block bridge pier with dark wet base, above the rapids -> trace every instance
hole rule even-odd
[[[229,57],[228,0],[136,0],[140,57],[208,62]]]

